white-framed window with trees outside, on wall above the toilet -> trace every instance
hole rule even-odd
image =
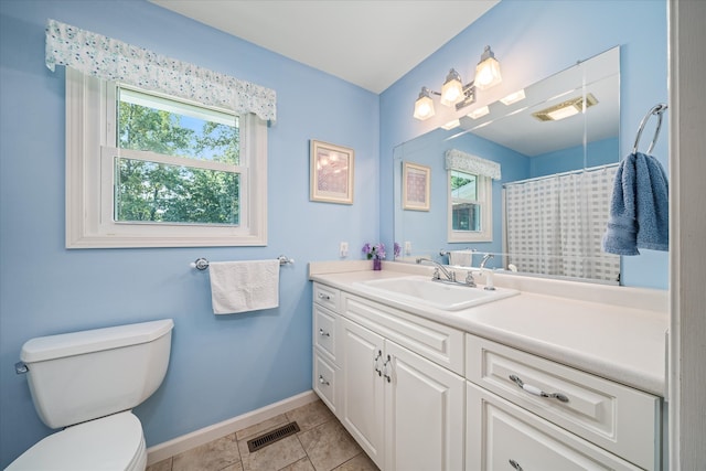
[[[267,244],[267,124],[66,68],[66,246]]]

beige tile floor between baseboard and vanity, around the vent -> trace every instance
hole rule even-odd
[[[300,431],[249,452],[247,440],[297,421]],[[317,400],[210,443],[168,458],[147,471],[378,471],[329,408]]]

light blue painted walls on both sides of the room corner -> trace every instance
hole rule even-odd
[[[64,71],[44,66],[47,18],[277,90],[267,247],[64,248]],[[164,385],[136,410],[150,446],[308,390],[306,263],[336,259],[342,240],[351,258],[381,235],[392,244],[393,149],[449,120],[413,119],[414,99],[450,67],[472,76],[485,44],[504,76],[483,92],[488,103],[620,44],[622,154],[642,116],[666,100],[664,0],[503,0],[379,97],[143,0],[0,1],[0,467],[51,432],[13,372],[38,335],[173,318]],[[309,202],[310,139],[355,149],[354,205]],[[654,151],[665,167],[666,140]],[[252,314],[214,317],[207,274],[189,268],[202,256],[279,254],[298,261],[280,275],[280,308]],[[623,263],[633,286],[665,288],[667,272],[663,253]]]

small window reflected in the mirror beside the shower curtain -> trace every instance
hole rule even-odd
[[[450,169],[449,242],[492,240],[491,179]]]

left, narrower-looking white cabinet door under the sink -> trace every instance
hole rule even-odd
[[[375,464],[383,468],[383,338],[347,319],[341,321],[341,422]]]

